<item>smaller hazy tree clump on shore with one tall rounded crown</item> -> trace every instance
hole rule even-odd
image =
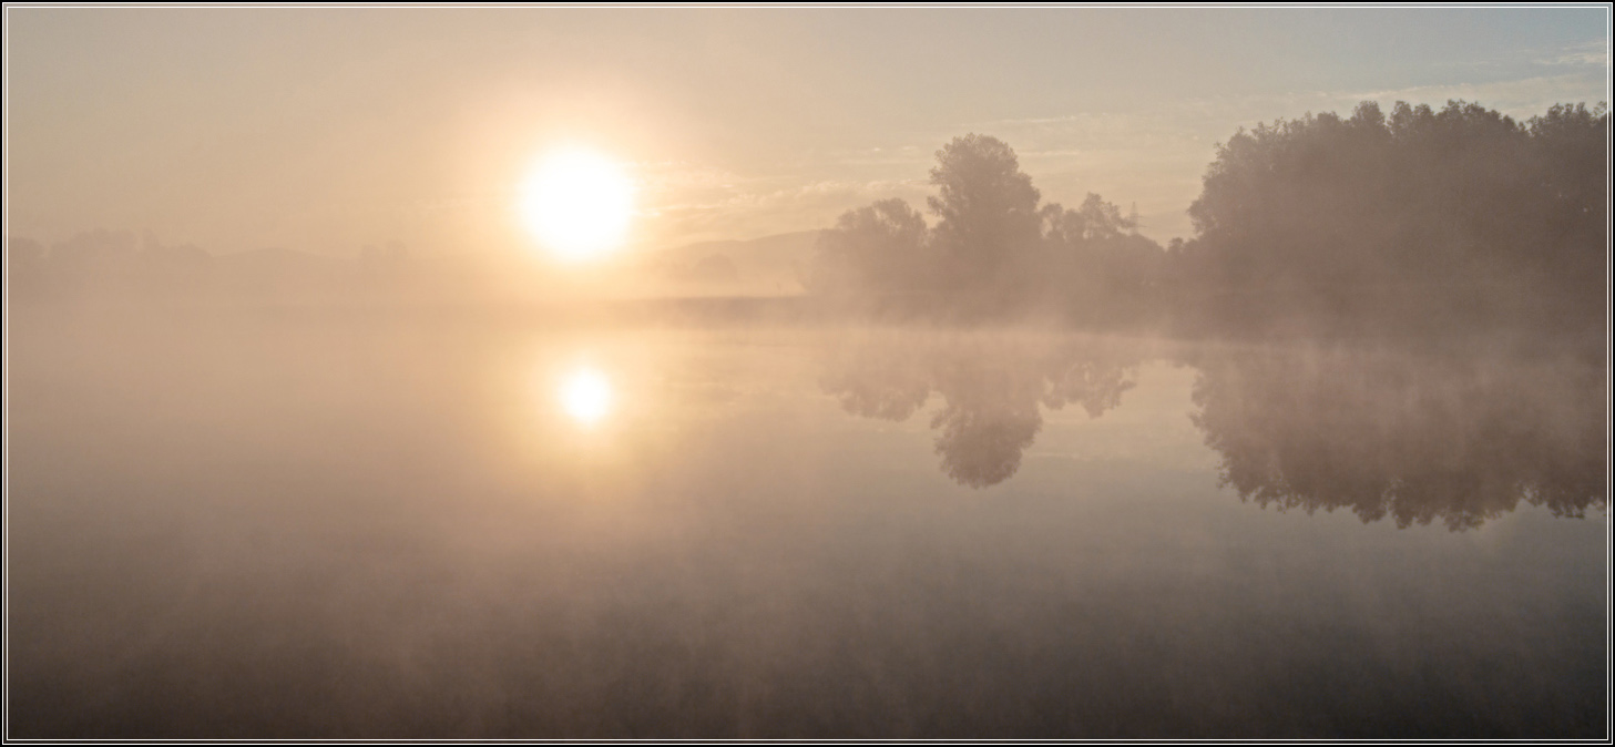
[[[1161,247],[1098,195],[1040,205],[1003,140],[967,134],[937,152],[927,200],[845,213],[819,244],[809,290],[864,313],[948,321],[1059,315],[1119,323],[1153,311]]]

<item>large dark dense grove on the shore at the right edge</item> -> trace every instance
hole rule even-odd
[[[1174,278],[1211,331],[1602,331],[1609,113],[1373,102],[1218,148]]]

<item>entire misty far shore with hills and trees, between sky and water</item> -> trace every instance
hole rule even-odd
[[[94,231],[8,237],[21,303],[544,305],[767,297],[770,318],[1037,324],[1229,339],[1604,337],[1607,105],[1523,123],[1465,102],[1363,102],[1235,132],[1163,247],[1101,195],[1043,202],[1006,142],[937,150],[924,210],[900,198],[820,232],[602,260],[559,278],[420,260],[401,242],[336,260],[210,255]],[[785,302],[785,298],[795,298]],[[707,316],[746,311],[696,303]],[[759,307],[761,308],[761,307]],[[543,311],[535,310],[539,316]],[[551,308],[554,313],[554,308]],[[738,316],[736,316],[738,313]]]

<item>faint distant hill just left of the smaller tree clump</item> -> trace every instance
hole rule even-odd
[[[686,244],[649,252],[648,274],[690,294],[795,295],[820,231]]]

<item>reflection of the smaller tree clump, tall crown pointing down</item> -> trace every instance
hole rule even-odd
[[[900,423],[940,394],[930,428],[942,471],[963,486],[988,487],[1021,468],[1043,428],[1040,407],[1076,403],[1098,418],[1134,387],[1140,361],[1135,348],[1089,339],[877,340],[832,361],[820,387],[851,415]]]

